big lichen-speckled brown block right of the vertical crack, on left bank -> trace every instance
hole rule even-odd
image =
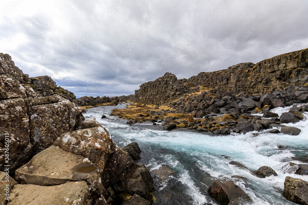
[[[42,98],[39,102],[48,103],[47,99],[49,98]],[[37,99],[32,101],[38,102]],[[57,137],[73,131],[84,120],[82,109],[68,100],[60,98],[57,103],[46,103],[28,107],[30,140],[34,145],[34,154],[50,147]]]

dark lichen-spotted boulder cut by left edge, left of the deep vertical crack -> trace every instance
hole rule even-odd
[[[0,100],[0,171],[4,163],[10,165],[10,171],[21,167],[31,157],[33,145],[29,135],[29,116],[24,99]],[[9,156],[5,156],[8,151]]]

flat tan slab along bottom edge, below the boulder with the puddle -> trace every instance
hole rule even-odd
[[[74,204],[90,205],[89,187],[84,181],[68,182],[58,186],[14,186],[10,193],[10,205],[20,204]]]

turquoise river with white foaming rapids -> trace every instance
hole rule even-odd
[[[307,175],[295,175],[296,168],[289,165],[293,157],[308,155],[308,113],[304,114],[303,121],[286,124],[300,128],[302,132],[298,136],[271,133],[254,136],[255,132],[212,136],[187,129],[164,131],[161,125],[150,123],[128,126],[127,120],[109,116],[112,109],[124,106],[90,108],[84,116],[86,119],[95,117],[120,148],[131,142],[139,144],[142,159],[138,163],[144,163],[151,170],[157,190],[156,204],[217,204],[207,193],[209,185],[216,179],[233,181],[256,205],[294,204],[282,196],[286,176],[308,181]],[[275,108],[272,112],[281,115],[289,109]],[[101,119],[102,115],[107,118]],[[279,149],[277,145],[285,148]],[[261,179],[246,169],[230,165],[231,161],[252,170],[269,166],[278,176]],[[159,182],[153,175],[153,170],[162,165],[176,171],[167,182]]]

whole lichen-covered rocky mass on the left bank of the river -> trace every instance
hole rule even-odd
[[[84,121],[73,94],[48,76],[29,78],[7,54],[0,72],[0,195],[10,193],[1,204],[150,204],[153,180],[134,148],[123,151],[95,119]]]

